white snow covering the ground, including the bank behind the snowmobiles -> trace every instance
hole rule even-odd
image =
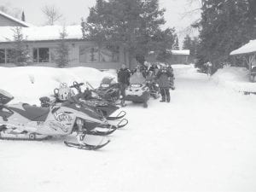
[[[256,96],[227,89],[222,73],[174,67],[171,103],[129,103],[129,125],[101,150],[67,148],[65,137],[0,141],[0,191],[256,191]],[[0,87],[35,103],[63,77],[98,84],[107,75],[87,70],[0,68]]]

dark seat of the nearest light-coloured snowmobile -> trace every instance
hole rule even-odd
[[[24,108],[24,110],[21,110],[20,108],[10,109],[16,113],[20,113],[20,115],[32,121],[45,121],[49,114],[49,108],[40,108],[37,106],[29,105],[27,103],[23,103],[22,108]]]

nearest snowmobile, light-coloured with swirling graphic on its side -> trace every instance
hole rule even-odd
[[[65,137],[77,133],[78,143],[65,144],[69,147],[97,149],[107,145],[105,138],[118,129],[91,108],[76,102],[62,102],[42,108],[27,103],[7,105],[14,99],[8,92],[0,90],[0,139],[43,140],[49,137]],[[98,131],[97,128],[107,131]],[[106,129],[107,128],[107,129]],[[86,143],[85,135],[101,136],[99,144]]]

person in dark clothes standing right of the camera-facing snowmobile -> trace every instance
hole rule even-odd
[[[160,102],[170,102],[170,80],[172,77],[172,73],[167,69],[167,67],[161,67],[159,72],[156,75],[158,80],[158,84],[160,87],[160,93],[162,96],[162,100]]]

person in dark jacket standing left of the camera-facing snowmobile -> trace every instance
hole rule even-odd
[[[130,84],[130,77],[131,77],[130,70],[128,68],[126,68],[125,64],[123,64],[118,73],[120,96],[122,96],[121,106],[125,105],[125,89]]]

